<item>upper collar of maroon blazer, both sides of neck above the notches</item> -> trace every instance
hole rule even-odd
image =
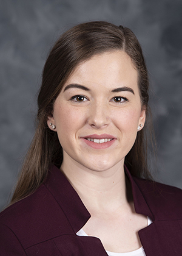
[[[149,216],[153,221],[153,215],[147,205],[140,188],[125,166],[125,172],[132,185],[133,201],[136,213]],[[67,216],[74,232],[78,232],[90,218],[90,213],[84,206],[80,197],[72,187],[66,176],[56,166],[52,165],[50,174],[44,185],[48,188],[53,197],[55,197],[59,206]]]

